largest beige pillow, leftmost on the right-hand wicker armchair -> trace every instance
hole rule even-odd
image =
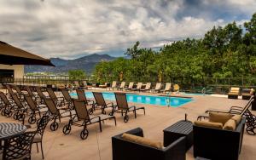
[[[233,117],[230,113],[209,112],[209,122],[222,123],[223,125]]]

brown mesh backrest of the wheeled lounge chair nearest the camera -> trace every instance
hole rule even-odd
[[[75,111],[77,113],[77,116],[80,119],[84,119],[86,121],[90,121],[89,113],[87,111],[86,104],[84,100],[78,100],[78,99],[72,99],[73,100],[73,106],[75,108]]]

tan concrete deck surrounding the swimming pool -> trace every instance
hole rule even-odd
[[[97,91],[106,91],[97,90]],[[143,93],[144,94],[144,93]],[[148,93],[145,93],[148,94]],[[155,94],[159,95],[159,94]],[[175,94],[186,96],[184,94]],[[191,95],[193,101],[177,107],[153,106],[136,104],[137,106],[146,107],[146,115],[143,111],[137,111],[137,119],[130,116],[128,123],[123,122],[120,114],[116,114],[117,126],[114,126],[113,121],[107,121],[102,125],[102,133],[99,131],[97,124],[92,124],[88,127],[89,136],[86,140],[81,140],[79,137],[82,128],[72,127],[71,134],[62,134],[62,128],[67,123],[68,118],[61,119],[61,124],[55,132],[50,131],[49,126],[44,133],[44,159],[90,159],[90,160],[111,160],[112,145],[111,137],[120,134],[129,129],[140,127],[143,129],[144,136],[152,139],[163,141],[163,129],[184,119],[185,113],[188,114],[188,119],[192,122],[196,117],[206,111],[208,108],[229,109],[230,106],[244,106],[247,100],[231,100],[227,96],[202,96]],[[131,104],[135,105],[135,104]],[[256,115],[256,111],[252,111]],[[0,122],[16,122],[13,118],[0,116]],[[26,121],[27,122],[27,121]],[[18,123],[18,122],[16,122]],[[41,153],[37,153],[37,147],[32,146],[32,159],[42,159]],[[40,149],[40,148],[39,148]],[[244,139],[241,148],[241,160],[256,159],[256,136],[244,134]],[[39,150],[40,151],[40,150]],[[187,152],[187,159],[192,160],[193,147]]]

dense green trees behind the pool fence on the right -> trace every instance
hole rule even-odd
[[[137,42],[126,50],[131,59],[98,64],[94,72],[98,81],[119,80],[121,73],[125,81],[133,81],[133,77],[253,77],[256,13],[243,26],[237,26],[235,21],[223,27],[214,26],[201,39],[173,42],[160,51],[142,49],[139,45]],[[150,79],[154,80],[157,81]]]

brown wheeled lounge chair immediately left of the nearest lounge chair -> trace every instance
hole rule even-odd
[[[62,117],[72,117],[72,115],[74,114],[74,112],[71,110],[57,108],[57,106],[55,106],[55,102],[50,98],[45,98],[44,102],[48,107],[48,113],[51,119],[54,120],[54,122],[50,124],[50,129],[52,131],[55,131],[56,129],[59,128],[59,124],[56,122],[56,119],[59,119],[59,122],[61,123]]]

